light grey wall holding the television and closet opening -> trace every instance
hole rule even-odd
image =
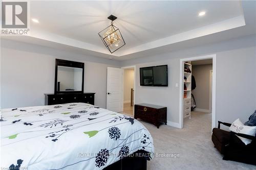
[[[167,120],[179,123],[179,65],[181,58],[217,54],[216,122],[248,119],[256,109],[255,36],[232,39],[172,53],[147,56],[122,62],[122,66],[168,64],[168,87],[143,87],[136,72],[136,103],[151,103],[167,107]]]

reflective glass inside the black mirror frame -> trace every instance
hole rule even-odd
[[[57,91],[81,91],[82,68],[58,65]]]

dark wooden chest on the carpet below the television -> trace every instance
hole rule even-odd
[[[151,104],[136,104],[134,105],[134,118],[140,118],[150,122],[159,128],[161,123],[167,124],[167,108],[163,106]]]

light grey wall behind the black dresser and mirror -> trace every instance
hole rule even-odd
[[[119,66],[118,61],[4,39],[1,107],[44,105],[44,93],[54,92],[55,58],[84,62],[84,91],[96,92],[95,105],[106,107],[106,67]]]

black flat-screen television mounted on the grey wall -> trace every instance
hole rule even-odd
[[[168,86],[167,65],[140,68],[141,86]]]

